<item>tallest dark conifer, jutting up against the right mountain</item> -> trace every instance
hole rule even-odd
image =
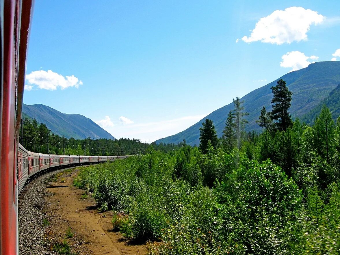
[[[292,125],[289,115],[293,93],[286,87],[286,82],[282,79],[277,81],[277,85],[271,87],[274,94],[272,99],[272,120],[276,120],[276,128],[279,131],[286,131]]]

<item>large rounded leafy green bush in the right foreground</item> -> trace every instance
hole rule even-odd
[[[243,160],[216,190],[223,236],[250,254],[293,254],[302,242],[301,192],[270,160]]]

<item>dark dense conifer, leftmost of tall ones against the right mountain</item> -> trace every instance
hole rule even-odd
[[[215,130],[215,126],[212,120],[206,119],[200,127],[200,145],[199,149],[205,154],[207,153],[208,141],[216,149],[218,147],[218,138]]]

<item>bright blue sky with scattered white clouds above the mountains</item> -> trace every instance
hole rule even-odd
[[[291,70],[340,60],[339,10],[340,1],[36,0],[24,103],[152,142]]]

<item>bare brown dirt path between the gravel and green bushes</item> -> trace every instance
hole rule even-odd
[[[48,221],[45,224],[50,224],[47,229],[50,245],[66,240],[72,251],[79,254],[146,254],[144,244],[131,244],[119,232],[111,230],[112,212],[99,214],[91,195],[84,198],[84,190],[72,186],[76,174],[77,170],[66,172],[47,184],[67,186],[47,188],[44,209]]]

